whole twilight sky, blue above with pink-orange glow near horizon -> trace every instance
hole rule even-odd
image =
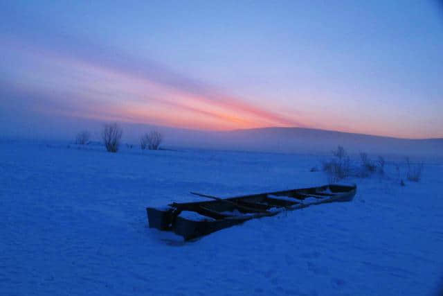
[[[437,1],[0,6],[5,130],[75,118],[443,137]]]

